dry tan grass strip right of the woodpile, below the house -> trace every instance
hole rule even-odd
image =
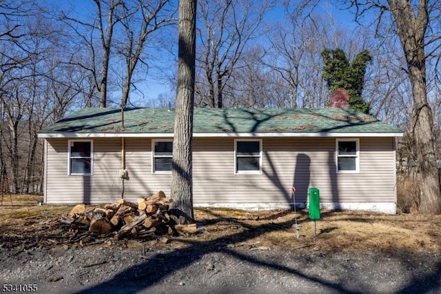
[[[230,246],[310,246],[322,251],[441,249],[440,215],[323,210],[321,219],[316,221],[315,235],[314,221],[309,219],[306,211],[295,214],[292,210],[196,209],[196,218],[205,227],[205,240],[230,239]],[[299,238],[293,226],[296,218],[300,224]]]

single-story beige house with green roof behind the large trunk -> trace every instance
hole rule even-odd
[[[85,108],[41,130],[44,202],[170,195],[174,111]],[[194,109],[194,206],[307,205],[396,213],[402,131],[348,108]],[[291,193],[292,187],[296,193]]]

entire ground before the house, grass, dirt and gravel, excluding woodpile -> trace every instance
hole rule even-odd
[[[164,243],[73,231],[73,206],[38,202],[0,206],[3,292],[441,293],[440,215],[196,209],[198,233]]]

